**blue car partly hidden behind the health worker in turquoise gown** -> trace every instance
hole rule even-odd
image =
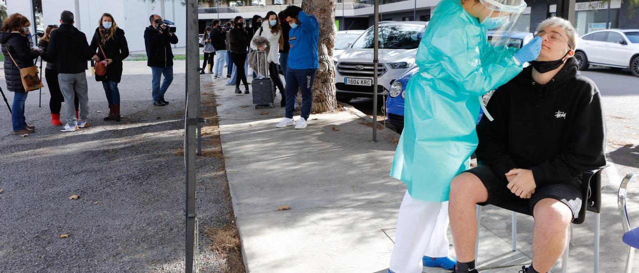
[[[491,40],[492,34],[492,31],[488,31],[488,40]],[[523,45],[530,42],[532,38],[532,33],[514,32],[508,42],[508,46],[521,48]],[[406,98],[404,91],[406,91],[408,79],[410,79],[410,77],[415,75],[418,71],[419,66],[415,66],[411,70],[408,70],[403,75],[399,76],[399,78],[394,80],[394,82],[390,85],[389,98],[386,100],[386,118],[395,128],[397,133],[401,133],[404,129],[404,98]],[[480,109],[477,123],[479,123],[482,115],[484,115],[484,112]]]

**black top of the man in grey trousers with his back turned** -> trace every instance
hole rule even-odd
[[[47,55],[56,62],[58,73],[84,73],[87,61],[95,55],[86,35],[72,24],[61,24],[50,35]]]

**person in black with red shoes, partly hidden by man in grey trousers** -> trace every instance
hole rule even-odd
[[[62,103],[65,101],[65,97],[62,96],[62,91],[60,91],[56,62],[51,59],[49,54],[47,54],[47,47],[49,47],[49,38],[51,38],[51,32],[56,29],[58,29],[58,25],[49,25],[47,27],[47,30],[45,30],[44,32],[44,36],[38,41],[38,47],[40,47],[40,50],[42,50],[42,52],[40,52],[40,57],[42,57],[42,59],[47,62],[47,66],[44,70],[44,76],[47,80],[47,87],[49,87],[49,94],[51,95],[51,99],[49,100],[51,124],[53,126],[61,126],[62,122],[60,121],[60,109],[62,108]],[[75,113],[77,118],[77,112],[80,109],[78,107],[77,97],[75,97],[73,105],[75,106]]]

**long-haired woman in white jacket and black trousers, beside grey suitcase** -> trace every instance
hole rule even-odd
[[[256,37],[259,36],[266,38],[270,47],[268,47],[268,45],[260,46],[254,43],[254,41],[256,41]],[[284,98],[284,84],[282,84],[282,80],[279,77],[279,57],[277,57],[277,54],[283,44],[284,41],[282,41],[282,27],[279,24],[277,13],[275,13],[275,11],[268,11],[268,13],[266,13],[266,17],[264,17],[264,20],[262,22],[262,27],[255,32],[253,40],[250,43],[250,47],[253,48],[253,50],[268,50],[267,60],[269,76],[273,80],[273,85],[275,85],[277,89],[279,89],[280,94],[282,95],[280,106],[286,107],[286,98]]]

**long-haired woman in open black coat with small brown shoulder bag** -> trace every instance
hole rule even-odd
[[[109,102],[109,115],[104,117],[104,121],[120,121],[118,84],[122,78],[122,61],[128,57],[127,38],[109,13],[104,13],[98,24],[89,47],[97,53],[100,61],[107,62],[107,74],[95,75],[95,80],[102,82]]]

